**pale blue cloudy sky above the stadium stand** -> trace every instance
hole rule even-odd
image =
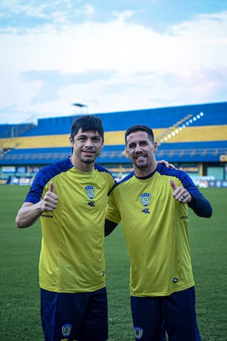
[[[0,0],[0,124],[222,101],[226,0]]]

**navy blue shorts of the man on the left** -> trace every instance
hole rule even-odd
[[[108,339],[106,288],[91,293],[54,293],[41,289],[45,341]]]

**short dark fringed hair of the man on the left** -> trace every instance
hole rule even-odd
[[[78,131],[82,129],[83,132],[87,132],[88,130],[92,130],[94,132],[98,132],[102,138],[102,142],[104,141],[104,129],[102,126],[102,121],[98,116],[95,115],[82,115],[76,118],[76,121],[72,125],[71,130],[71,138],[74,140],[74,136],[78,133]]]

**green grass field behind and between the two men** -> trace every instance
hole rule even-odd
[[[27,186],[0,186],[0,340],[42,341],[38,262],[40,223],[17,229],[14,218]],[[213,217],[189,210],[191,254],[197,296],[197,322],[203,341],[226,341],[227,189],[202,189]],[[129,304],[129,259],[122,229],[105,239],[109,341],[133,341]],[[184,340],[182,340],[184,341]]]

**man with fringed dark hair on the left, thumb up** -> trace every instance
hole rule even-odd
[[[100,118],[79,116],[69,137],[72,156],[36,174],[17,214],[17,227],[29,227],[41,217],[45,341],[108,338],[103,242],[106,199],[114,178],[95,163],[103,141]]]

